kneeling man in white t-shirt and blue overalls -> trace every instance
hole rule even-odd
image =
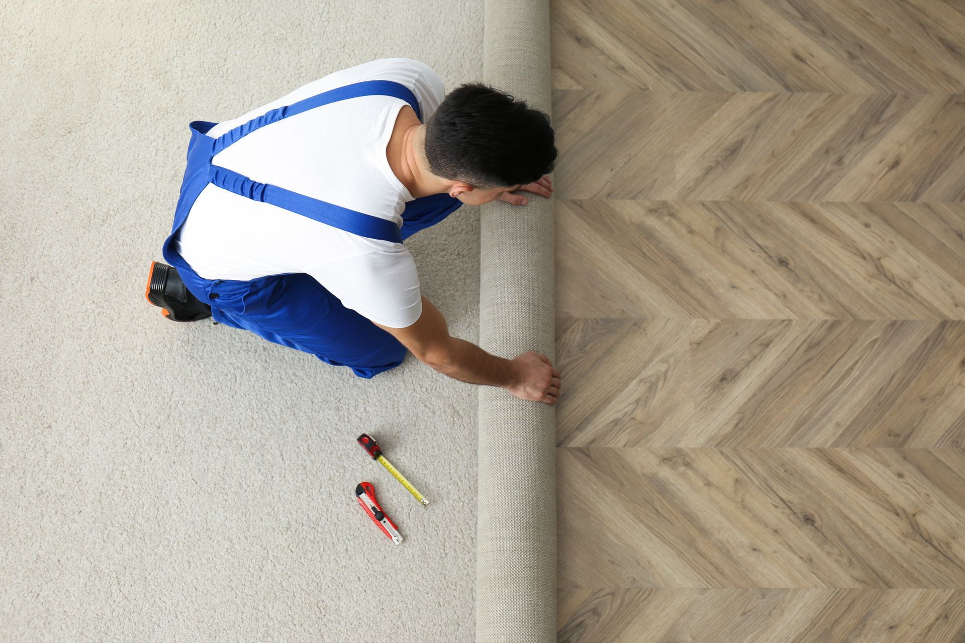
[[[560,374],[449,335],[402,241],[462,203],[549,197],[549,118],[480,84],[445,95],[410,59],[332,73],[244,116],[191,123],[175,223],[147,297],[371,378],[406,349],[450,377],[555,404]]]

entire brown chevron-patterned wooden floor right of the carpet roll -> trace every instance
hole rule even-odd
[[[965,0],[552,0],[559,640],[965,642]]]

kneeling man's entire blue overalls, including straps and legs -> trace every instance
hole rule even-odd
[[[405,86],[385,80],[354,83],[311,96],[271,110],[216,139],[206,135],[215,123],[193,121],[174,226],[163,249],[165,261],[178,269],[187,289],[211,307],[215,321],[311,353],[322,362],[348,366],[355,375],[367,379],[402,362],[405,347],[394,336],[355,310],[345,308],[337,297],[305,273],[270,275],[252,281],[207,280],[179,255],[175,240],[191,205],[208,183],[372,239],[401,242],[445,219],[461,205],[461,201],[447,194],[408,201],[402,212],[400,228],[387,219],[259,183],[212,164],[215,154],[260,127],[321,105],[368,95],[388,95],[405,100],[422,121],[422,111],[415,95]]]

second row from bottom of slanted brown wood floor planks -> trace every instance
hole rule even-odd
[[[562,588],[965,587],[960,449],[557,453]]]

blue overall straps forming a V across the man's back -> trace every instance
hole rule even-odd
[[[225,147],[234,144],[247,134],[272,122],[281,121],[295,114],[301,114],[310,109],[338,102],[339,100],[370,95],[386,95],[400,98],[415,110],[416,116],[422,121],[422,111],[419,109],[419,102],[416,100],[415,94],[412,94],[407,87],[390,80],[367,80],[361,83],[345,85],[345,87],[339,87],[328,92],[323,92],[322,94],[305,98],[304,100],[299,100],[285,107],[273,109],[258,118],[238,125],[214,141],[211,156],[217,154]],[[343,229],[347,232],[372,239],[382,239],[396,243],[401,243],[402,241],[399,227],[392,221],[373,217],[364,212],[357,212],[327,201],[319,201],[311,197],[306,197],[297,192],[280,188],[277,185],[259,183],[228,168],[209,165],[207,180],[209,183],[234,192],[236,195],[246,197],[253,201],[262,201],[264,203],[277,205],[290,212],[300,214],[334,228]]]

